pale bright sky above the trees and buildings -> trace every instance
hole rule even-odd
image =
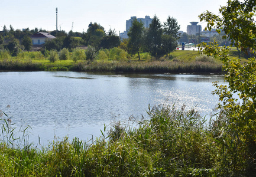
[[[145,18],[156,15],[161,24],[168,16],[176,18],[180,30],[186,32],[189,22],[198,21],[204,28],[206,22],[200,22],[198,15],[206,10],[218,14],[219,8],[227,0],[1,0],[0,31],[4,25],[17,30],[22,28],[42,28],[56,30],[56,8],[58,8],[58,30],[83,32],[88,30],[90,22],[98,23],[108,31],[125,31],[126,20],[133,16]]]

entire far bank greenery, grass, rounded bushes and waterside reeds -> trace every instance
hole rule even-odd
[[[229,52],[238,58],[235,50]],[[86,55],[87,54],[87,55]],[[87,60],[91,56],[92,60]],[[246,59],[243,59],[246,61]],[[54,62],[51,62],[54,61]],[[68,51],[66,48],[48,52],[40,51],[20,53],[17,57],[8,51],[0,52],[0,70],[7,71],[119,71],[141,73],[222,73],[222,61],[219,58],[199,55],[198,51],[177,50],[169,56],[163,55],[155,60],[148,53],[128,55],[121,48],[110,50],[86,51],[77,48]]]

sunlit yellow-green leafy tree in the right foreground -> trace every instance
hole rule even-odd
[[[226,85],[215,83],[217,94],[222,103],[218,123],[221,135],[218,141],[222,143],[223,156],[221,169],[223,176],[231,173],[237,176],[255,176],[256,153],[256,1],[229,0],[226,6],[219,9],[221,16],[209,11],[199,16],[200,21],[208,22],[206,29],[216,28],[220,33],[225,32],[223,39],[229,38],[231,46],[240,48],[251,58],[242,63],[239,58],[228,55],[229,47],[219,47],[218,43],[202,43],[200,51],[208,55],[220,57],[223,70],[226,71]],[[239,100],[235,94],[238,94]],[[216,138],[217,139],[217,138]],[[232,162],[232,163],[226,163]]]

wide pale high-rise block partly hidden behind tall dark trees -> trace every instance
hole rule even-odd
[[[126,21],[126,28],[125,28],[126,31],[119,33],[119,37],[121,38],[121,40],[122,40],[123,38],[128,38],[128,35],[127,35],[127,34],[128,34],[128,31],[129,31],[129,28],[131,28],[131,26],[132,26],[132,21],[133,21],[134,19],[136,19],[136,18],[137,18],[137,17],[134,16],[134,17],[131,17],[131,19],[128,19],[128,20]],[[153,19],[150,18],[150,16],[146,15],[145,18],[137,18],[137,20],[143,22],[143,23],[144,23],[144,27],[145,27],[145,28],[148,28],[148,27],[150,27],[150,24],[151,24],[151,22],[152,22]]]

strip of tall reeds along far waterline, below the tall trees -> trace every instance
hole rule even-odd
[[[143,73],[221,73],[221,63],[202,61],[93,61],[73,65],[74,71],[123,71]]]

